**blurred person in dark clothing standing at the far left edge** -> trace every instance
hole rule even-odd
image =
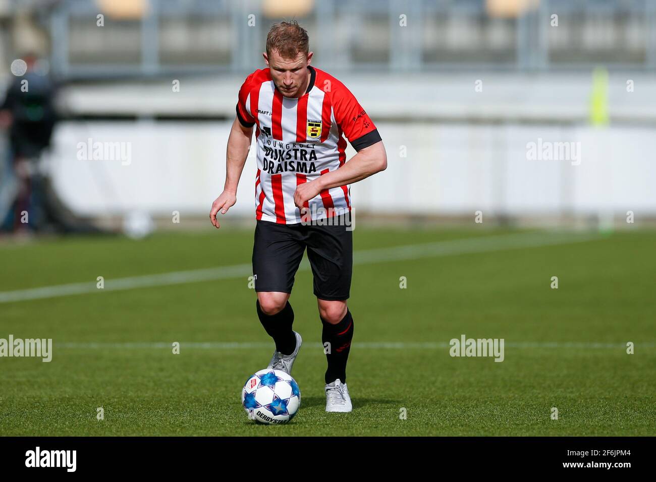
[[[0,127],[9,149],[1,159],[0,230],[42,230],[46,222],[43,176],[37,163],[50,146],[56,123],[56,89],[35,54],[23,57],[26,71],[14,76],[0,107]],[[41,64],[43,65],[43,64]]]

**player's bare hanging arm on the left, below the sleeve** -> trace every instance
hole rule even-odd
[[[209,213],[209,219],[215,228],[220,228],[216,214],[221,211],[226,214],[228,209],[237,202],[237,185],[241,177],[241,171],[244,169],[246,158],[251,149],[251,139],[253,138],[253,126],[246,127],[242,125],[236,117],[230,129],[228,137],[228,149],[226,151],[226,184],[223,192],[212,203],[212,210]]]

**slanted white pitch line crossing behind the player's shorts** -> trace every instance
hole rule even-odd
[[[437,241],[435,243],[356,251],[354,252],[353,263],[373,264],[377,262],[416,260],[420,258],[449,256],[452,254],[581,243],[595,239],[600,239],[600,236],[590,233],[577,234],[549,232],[468,237],[464,239],[453,239],[450,241]],[[309,270],[310,264],[307,260],[304,260],[298,269],[302,271]],[[92,281],[87,283],[70,283],[66,285],[45,286],[16,291],[2,291],[0,292],[0,303],[56,298],[58,296],[97,293],[102,291],[120,291],[135,288],[181,285],[184,283],[197,283],[199,281],[215,281],[218,279],[246,277],[251,274],[251,264],[219,266],[218,268],[206,268],[201,270],[171,271],[169,273],[153,275],[105,279],[104,289],[102,290],[96,287],[95,281]]]

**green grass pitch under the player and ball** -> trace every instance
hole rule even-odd
[[[451,251],[381,251],[354,266],[350,414],[325,412],[321,323],[312,275],[299,271],[302,403],[285,426],[256,425],[239,401],[273,350],[247,273],[0,303],[0,338],[54,344],[51,363],[0,358],[0,435],[654,435],[656,232],[544,245],[507,245],[509,234],[525,232],[358,226],[356,252]],[[0,292],[249,264],[252,245],[251,230],[228,222],[142,241],[5,242]],[[461,334],[504,338],[504,361],[451,357]]]

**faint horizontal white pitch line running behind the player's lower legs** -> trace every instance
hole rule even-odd
[[[318,342],[306,343],[313,348],[323,348]],[[172,344],[167,342],[63,342],[54,343],[54,346],[61,348],[79,348],[79,349],[142,349],[142,348],[165,348],[170,350]],[[271,348],[273,342],[180,342],[180,348],[200,348],[209,350],[245,350],[249,348]],[[356,348],[384,348],[392,350],[412,350],[417,348],[447,348],[450,345],[447,342],[358,342]],[[594,342],[507,342],[504,346],[508,348],[626,348],[623,343],[594,343]],[[654,348],[654,342],[637,342],[637,347]]]

